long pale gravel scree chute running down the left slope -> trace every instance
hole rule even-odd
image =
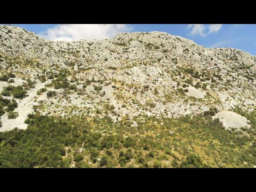
[[[43,88],[45,84],[50,81],[46,81],[44,83],[38,82],[35,84],[35,88],[28,90],[28,96],[22,100],[16,99],[18,103],[18,107],[14,110],[18,112],[19,116],[16,119],[8,119],[7,113],[1,116],[2,127],[0,127],[1,131],[12,130],[15,127],[19,129],[26,129],[28,124],[24,124],[24,120],[26,120],[27,115],[32,112],[34,105],[34,97],[37,96],[36,91],[40,88]],[[38,98],[42,98],[44,94],[38,96]]]

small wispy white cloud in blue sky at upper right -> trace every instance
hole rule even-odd
[[[190,35],[200,35],[200,36],[207,36],[211,33],[216,33],[222,28],[222,24],[210,24],[207,27],[205,24],[188,24],[188,29],[192,28]],[[206,29],[208,32],[205,32]]]

